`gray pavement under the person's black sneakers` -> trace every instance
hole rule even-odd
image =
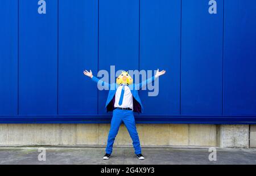
[[[102,160],[101,147],[44,147],[46,161],[39,161],[38,148],[0,147],[0,164],[256,164],[256,149],[217,149],[217,161],[209,161],[208,148],[142,148],[140,161],[131,147],[114,148],[109,160]]]

